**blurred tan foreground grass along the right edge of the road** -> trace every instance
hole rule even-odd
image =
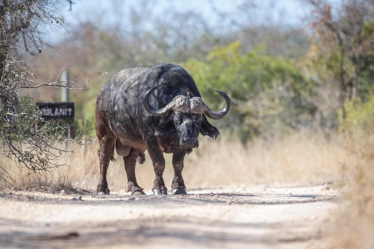
[[[374,127],[373,127],[374,128]],[[373,130],[373,129],[371,129]],[[374,134],[346,138],[356,160],[346,165],[344,202],[330,239],[335,248],[374,248]]]

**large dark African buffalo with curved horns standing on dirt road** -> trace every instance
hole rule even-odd
[[[215,89],[216,90],[216,89]],[[114,74],[98,93],[96,101],[96,136],[99,141],[100,179],[97,193],[109,194],[107,169],[114,160],[114,148],[123,156],[128,192],[145,194],[135,177],[136,161],[144,163],[148,150],[156,178],[154,195],[166,195],[162,178],[163,153],[173,153],[173,194],[186,194],[182,178],[186,153],[197,147],[197,136],[216,138],[218,129],[206,117],[222,119],[229,114],[231,101],[222,111],[214,112],[201,99],[192,77],[175,64],[155,67],[128,67]]]

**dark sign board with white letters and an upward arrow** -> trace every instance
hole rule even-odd
[[[73,122],[74,102],[36,102],[45,121],[61,120]]]

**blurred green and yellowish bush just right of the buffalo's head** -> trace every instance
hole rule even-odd
[[[233,109],[220,125],[243,142],[257,135],[270,138],[313,118],[315,106],[307,101],[313,94],[312,81],[291,59],[267,55],[266,46],[242,55],[240,42],[233,42],[215,47],[203,61],[187,61],[185,68],[211,108],[223,105],[214,88],[229,94]]]

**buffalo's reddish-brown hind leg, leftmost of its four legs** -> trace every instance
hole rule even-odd
[[[107,170],[109,166],[110,159],[113,158],[114,142],[116,138],[114,136],[103,136],[99,138],[99,163],[100,163],[100,178],[97,184],[97,194],[105,195],[109,194],[110,190],[108,188],[107,182]]]

